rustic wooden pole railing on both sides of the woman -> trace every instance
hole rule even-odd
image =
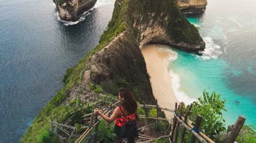
[[[101,100],[102,101],[102,100]],[[117,103],[119,101],[117,101],[116,103],[109,104],[109,108],[104,108],[102,109],[102,112],[104,115],[106,116],[111,116],[113,108],[115,108],[117,106]],[[157,100],[156,100],[157,103]],[[92,103],[91,105],[95,105],[95,103]],[[191,112],[191,108],[193,107],[193,104],[190,104],[187,108],[186,113],[183,115],[183,107],[184,104],[183,102],[180,103],[180,105],[177,107],[177,103],[175,104],[175,109],[168,109],[168,108],[164,108],[164,107],[160,107],[157,105],[146,105],[145,103],[143,103],[142,105],[138,105],[138,107],[142,107],[142,109],[144,109],[145,111],[145,115],[139,115],[140,118],[145,118],[146,121],[146,126],[142,127],[148,127],[151,126],[150,125],[150,121],[152,123],[152,120],[155,120],[155,124],[158,126],[158,123],[160,120],[163,121],[168,121],[170,123],[169,127],[167,128],[167,130],[165,131],[165,134],[163,136],[160,136],[158,138],[154,138],[151,136],[146,136],[146,135],[139,135],[139,138],[141,140],[144,140],[143,142],[154,142],[154,139],[161,139],[161,138],[169,138],[169,142],[174,142],[177,143],[178,142],[178,136],[179,134],[181,135],[181,137],[179,138],[180,141],[179,142],[184,142],[184,137],[185,137],[185,133],[186,131],[190,132],[192,134],[191,138],[190,138],[190,142],[194,143],[196,141],[196,139],[199,140],[199,142],[210,142],[210,143],[215,143],[214,140],[210,139],[207,135],[205,135],[200,129],[200,124],[201,121],[203,120],[201,115],[197,115],[195,126],[191,125],[190,123],[192,121],[189,121],[188,116],[189,113]],[[89,107],[90,105],[88,105]],[[113,107],[113,108],[112,108]],[[83,107],[84,108],[84,107]],[[148,109],[151,108],[156,108],[157,109],[157,115],[156,116],[149,116],[148,115]],[[165,117],[159,117],[159,112],[161,110],[166,110],[170,113],[173,114],[172,118],[165,118]],[[83,117],[86,117],[86,119],[88,120],[89,118],[91,119],[89,122],[87,122],[88,126],[84,126],[81,128],[86,128],[86,131],[84,131],[79,138],[75,141],[75,143],[80,143],[82,142],[84,139],[87,140],[87,142],[97,142],[97,134],[98,134],[98,125],[99,122],[102,120],[102,117],[98,117],[97,115],[95,115],[93,112],[90,114],[86,114]],[[71,119],[69,119],[67,122],[70,122]],[[238,136],[239,131],[241,130],[243,124],[245,122],[245,117],[244,116],[239,116],[236,124],[230,126],[229,130],[230,132],[227,134],[227,143],[233,143],[234,140],[236,139],[236,137]],[[66,122],[65,122],[66,123]],[[75,128],[66,124],[60,124],[57,122],[54,122],[52,119],[50,121],[50,124],[52,126],[52,132],[55,133],[59,138],[62,139],[63,142],[67,142],[68,139],[70,139],[70,137],[73,136],[77,136],[74,133]],[[89,125],[90,124],[90,125]],[[67,131],[65,128],[69,128],[70,130]],[[140,128],[140,129],[142,129]],[[55,130],[54,130],[55,129]],[[94,129],[94,130],[93,130]],[[140,130],[139,129],[139,130]],[[181,130],[180,130],[181,129]],[[68,135],[68,138],[63,138],[61,137],[57,132],[57,130],[61,130],[62,132],[65,132]]]

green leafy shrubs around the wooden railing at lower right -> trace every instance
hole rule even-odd
[[[225,120],[223,119],[222,112],[226,111],[225,100],[221,100],[220,94],[212,92],[209,94],[207,91],[203,91],[203,96],[194,102],[189,115],[190,121],[196,121],[196,116],[200,114],[202,116],[201,130],[204,134],[209,136],[212,140],[220,143],[224,143],[226,140],[227,130],[225,126]],[[183,108],[183,113],[187,108]],[[179,134],[181,134],[181,129]],[[179,136],[180,138],[180,136]],[[191,133],[186,131],[184,142],[189,142]],[[256,135],[253,129],[248,126],[243,126],[242,130],[237,137],[238,142],[255,142]]]

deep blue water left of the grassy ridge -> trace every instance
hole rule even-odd
[[[83,20],[58,20],[45,0],[0,0],[0,142],[18,142],[55,96],[68,67],[98,44],[114,0],[98,0]]]

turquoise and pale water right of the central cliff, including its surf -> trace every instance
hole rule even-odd
[[[235,3],[209,1],[204,14],[187,16],[206,49],[202,56],[174,49],[178,58],[170,63],[170,75],[178,77],[173,80],[180,84],[174,88],[177,96],[197,99],[203,89],[221,94],[226,100],[226,125],[234,124],[239,115],[246,117],[246,125],[256,125],[256,16],[250,14],[256,11],[255,2]],[[225,9],[229,4],[232,9]]]

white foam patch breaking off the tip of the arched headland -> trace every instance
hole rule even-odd
[[[202,56],[195,55],[197,58],[202,60],[218,59],[218,56],[223,54],[221,46],[215,44],[211,37],[205,37],[203,40],[205,41],[205,50],[200,52]]]

